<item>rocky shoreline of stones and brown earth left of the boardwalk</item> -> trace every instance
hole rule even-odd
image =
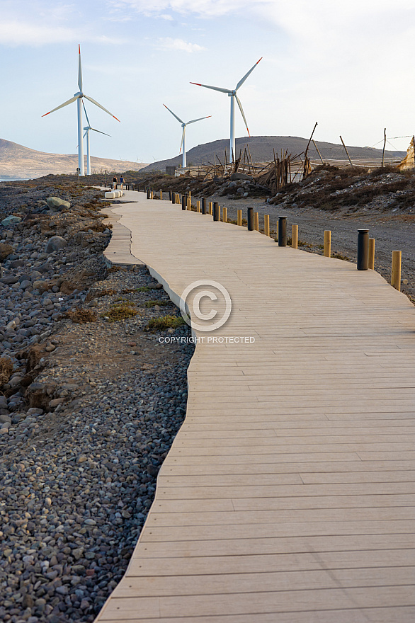
[[[92,188],[0,188],[5,622],[93,621],[186,413],[193,346],[159,337],[189,329],[145,267],[108,268],[101,207]]]

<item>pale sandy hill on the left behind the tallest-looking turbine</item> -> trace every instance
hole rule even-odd
[[[35,149],[0,139],[0,179],[2,180],[33,179],[49,173],[76,173],[77,166],[78,156],[76,154],[36,152]],[[91,156],[91,170],[96,172],[103,169],[107,171],[140,171],[140,168],[145,166],[147,166],[145,163],[129,160],[113,160]]]

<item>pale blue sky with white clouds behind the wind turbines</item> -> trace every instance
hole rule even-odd
[[[415,0],[0,0],[0,137],[76,153],[79,89],[94,156],[151,163],[229,138],[226,93],[238,91],[251,135],[407,149],[414,123]],[[84,124],[86,125],[86,123]],[[246,136],[237,110],[237,137]],[[403,137],[403,138],[396,138]]]

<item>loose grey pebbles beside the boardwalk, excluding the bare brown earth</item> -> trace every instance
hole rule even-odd
[[[48,208],[43,202],[35,210],[46,214]],[[102,240],[108,241],[109,233]],[[86,235],[92,242],[82,246]],[[159,467],[186,413],[193,346],[169,346],[174,364],[166,354],[166,362],[142,366],[137,350],[136,367],[120,373],[116,382],[100,379],[87,393],[83,379],[67,379],[57,384],[57,397],[51,377],[42,377],[45,355],[31,387],[46,393],[49,388],[48,408],[56,411],[30,406],[20,385],[25,360],[18,353],[40,343],[56,357],[56,321],[86,297],[83,290],[72,295],[59,290],[59,278],[76,274],[86,251],[91,274],[101,270],[102,245],[93,250],[96,234],[80,232],[79,246],[70,242],[45,253],[46,239],[37,226],[0,228],[0,236],[15,248],[2,263],[6,282],[0,282],[0,357],[14,368],[2,388],[7,396],[0,395],[0,620],[91,623],[125,573],[154,499]],[[57,285],[50,287],[51,279]],[[154,283],[148,273],[142,280],[139,285]],[[105,327],[113,331],[110,322]],[[128,336],[127,324],[125,331]],[[187,327],[177,331],[188,335]],[[128,337],[127,343],[137,346]]]

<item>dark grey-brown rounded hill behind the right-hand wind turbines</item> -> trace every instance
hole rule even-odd
[[[273,159],[274,149],[275,154],[280,155],[281,149],[287,149],[289,154],[295,156],[305,151],[307,143],[308,139],[302,137],[244,137],[236,140],[237,156],[239,156],[239,149],[242,150],[243,154],[244,148],[249,146],[249,151],[251,152],[251,157],[254,162],[267,162]],[[343,145],[341,144],[338,145],[323,141],[316,141],[316,144],[324,160],[345,160],[347,157]],[[215,154],[217,154],[220,161],[223,162],[225,149],[227,158],[229,159],[229,139],[220,139],[219,141],[204,143],[193,147],[193,149],[186,152],[188,164],[208,164],[209,162],[213,164]],[[347,146],[347,149],[352,160],[353,158],[358,160],[382,158],[382,149],[353,146]],[[389,161],[391,159],[402,159],[405,155],[406,152],[385,152],[385,157]],[[309,147],[309,156],[312,159],[319,159],[312,143]],[[166,166],[178,165],[181,165],[181,156],[154,162],[146,166],[143,171],[164,171]]]

